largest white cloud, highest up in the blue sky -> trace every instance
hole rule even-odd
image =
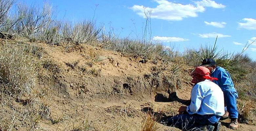
[[[206,0],[206,1],[214,2],[211,0]],[[138,15],[144,18],[145,18],[144,12],[151,12],[151,18],[169,20],[169,21],[178,21],[178,20],[182,20],[183,18],[197,17],[198,16],[197,13],[204,12],[205,10],[204,7],[206,6],[202,4],[200,5],[200,3],[198,3],[197,5],[192,5],[192,4],[182,5],[182,4],[169,2],[167,0],[155,0],[155,2],[159,4],[156,8],[134,5],[131,9],[133,9],[135,12],[137,12]],[[216,8],[216,6],[210,6],[210,7]]]

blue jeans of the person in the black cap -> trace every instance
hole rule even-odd
[[[238,118],[238,110],[236,105],[237,93],[231,89],[226,89],[224,93],[224,102],[227,106],[227,112],[230,118]]]

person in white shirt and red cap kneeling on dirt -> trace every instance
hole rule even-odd
[[[199,66],[191,73],[194,86],[191,91],[191,103],[189,106],[181,106],[179,112],[185,112],[173,116],[166,121],[166,125],[175,126],[182,130],[219,130],[218,122],[224,115],[224,95],[221,88],[211,82],[218,80],[210,77],[210,71],[206,67]]]

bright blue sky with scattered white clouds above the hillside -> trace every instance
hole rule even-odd
[[[45,0],[19,1],[42,6]],[[144,10],[151,11],[152,39],[165,46],[199,48],[214,44],[241,52],[256,39],[255,0],[48,0],[58,19],[79,21],[95,17],[97,24],[113,27],[120,37],[136,38],[145,25]],[[96,5],[97,8],[96,8]],[[247,50],[256,60],[256,42]]]

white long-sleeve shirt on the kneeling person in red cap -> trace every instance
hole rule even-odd
[[[187,106],[189,114],[224,115],[224,95],[221,88],[209,81],[197,83],[191,91],[191,103]]]

